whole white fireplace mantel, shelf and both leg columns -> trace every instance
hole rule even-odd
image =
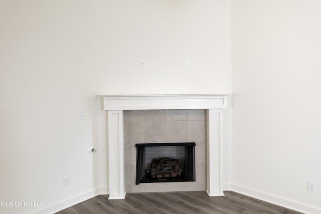
[[[125,198],[125,145],[123,110],[206,110],[206,191],[223,194],[223,109],[227,94],[100,95],[108,111],[109,198]],[[141,143],[141,142],[137,142]],[[196,175],[197,176],[197,175]]]

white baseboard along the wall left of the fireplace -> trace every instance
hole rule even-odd
[[[38,210],[34,210],[34,211],[30,212],[30,214],[31,213],[34,213],[34,214],[55,213],[55,212],[58,212],[58,211],[63,210],[65,208],[68,208],[70,206],[73,206],[77,203],[88,200],[88,199],[95,197],[97,195],[100,195],[100,194],[108,194],[108,187],[101,187],[101,188],[92,189],[92,190],[89,190],[89,191],[84,192],[82,194],[75,195],[70,198],[65,198],[64,200],[61,200],[55,204],[52,204],[52,205],[49,205],[46,207],[42,207]]]

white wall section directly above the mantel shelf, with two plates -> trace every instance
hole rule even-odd
[[[230,1],[105,1],[98,10],[103,93],[230,92]]]

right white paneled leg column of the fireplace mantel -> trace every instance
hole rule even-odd
[[[223,110],[207,109],[207,188],[209,196],[223,193]]]

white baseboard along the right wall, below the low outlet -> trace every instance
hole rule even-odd
[[[246,186],[231,184],[231,190],[306,214],[321,214],[321,207],[311,206],[309,204],[301,203],[299,201],[294,201],[277,195],[272,195]]]

